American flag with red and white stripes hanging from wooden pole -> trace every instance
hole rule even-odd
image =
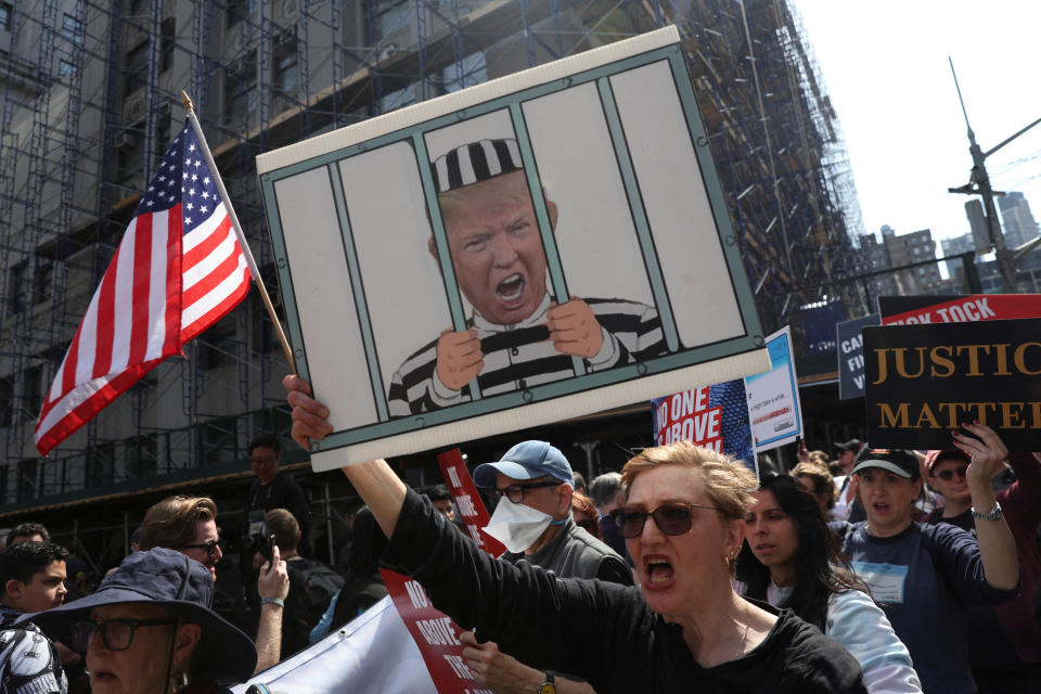
[[[36,423],[47,455],[235,307],[249,269],[191,124],[152,179]]]

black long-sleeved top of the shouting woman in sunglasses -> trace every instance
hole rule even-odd
[[[639,588],[497,561],[411,490],[383,560],[416,578],[460,626],[522,663],[574,672],[599,694],[865,691],[857,660],[787,609],[750,653],[704,668]]]

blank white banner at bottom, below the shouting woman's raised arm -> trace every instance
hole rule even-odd
[[[250,685],[259,692],[293,694],[439,691],[389,596],[318,643],[230,689],[245,694]]]

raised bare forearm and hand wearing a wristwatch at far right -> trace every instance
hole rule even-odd
[[[992,428],[984,424],[965,424],[966,430],[979,439],[954,433],[954,445],[971,459],[967,479],[968,491],[973,497],[973,510],[987,514],[994,507],[994,490],[991,478],[1004,464],[1008,449]],[[975,516],[976,539],[979,541],[979,556],[984,563],[984,575],[991,587],[1012,590],[1019,583],[1019,560],[1016,554],[1016,540],[1008,529],[1003,515],[994,519]]]

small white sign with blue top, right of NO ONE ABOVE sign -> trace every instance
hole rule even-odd
[[[802,436],[802,410],[791,329],[785,325],[767,337],[767,349],[770,351],[770,370],[745,378],[756,451],[777,448]]]

